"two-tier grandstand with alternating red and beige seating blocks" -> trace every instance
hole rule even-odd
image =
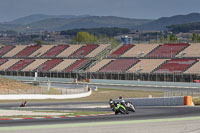
[[[38,71],[40,76],[53,76],[50,73],[56,72],[75,78],[84,72],[89,75],[82,76],[93,78],[192,81],[200,74],[199,46],[125,44],[109,52],[110,44],[2,45],[0,73]]]

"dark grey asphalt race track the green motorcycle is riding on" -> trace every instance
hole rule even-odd
[[[0,104],[1,109],[17,109],[18,103]],[[87,105],[107,106],[107,103],[28,103],[24,109],[31,110],[87,110],[87,111],[110,111],[109,107],[87,108]],[[60,107],[59,107],[60,106]],[[66,107],[63,107],[66,106]],[[73,106],[75,108],[73,108]],[[79,106],[85,106],[79,108]],[[26,126],[26,125],[46,125],[46,124],[66,124],[85,122],[109,122],[126,120],[148,120],[163,118],[181,118],[200,116],[200,107],[136,107],[135,113],[128,115],[105,115],[87,117],[67,117],[48,119],[27,119],[27,120],[1,120],[0,127],[4,126]]]

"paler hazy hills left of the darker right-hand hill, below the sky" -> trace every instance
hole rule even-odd
[[[14,20],[8,23],[0,23],[0,30],[16,31],[60,31],[75,28],[120,27],[134,29],[136,26],[152,22],[149,19],[130,19],[115,16],[57,16],[33,15]],[[41,20],[42,19],[42,20]],[[39,21],[38,21],[39,20]],[[13,27],[13,25],[15,25]]]

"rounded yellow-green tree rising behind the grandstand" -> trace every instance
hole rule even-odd
[[[97,39],[93,34],[88,32],[78,32],[77,36],[72,39],[72,43],[96,43]]]

